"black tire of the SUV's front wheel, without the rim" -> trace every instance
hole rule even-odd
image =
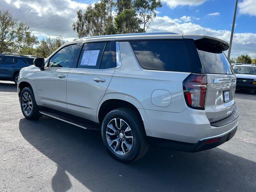
[[[32,110],[30,111],[29,114],[26,114],[26,112],[24,111],[23,107],[22,107],[22,97],[25,95],[29,94],[30,98],[31,98],[31,102],[32,103]],[[20,93],[20,108],[22,111],[22,114],[24,115],[24,117],[26,117],[27,119],[38,119],[42,116],[42,114],[40,114],[39,112],[39,108],[36,104],[35,101],[35,97],[34,97],[34,93],[32,90],[32,87],[25,87],[22,89],[22,92]]]

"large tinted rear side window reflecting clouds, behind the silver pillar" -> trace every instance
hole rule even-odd
[[[130,42],[138,62],[144,69],[190,72],[183,41],[155,40]]]

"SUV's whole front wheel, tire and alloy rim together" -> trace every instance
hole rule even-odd
[[[36,104],[31,87],[25,87],[20,94],[20,107],[23,115],[27,119],[38,119],[42,116]]]

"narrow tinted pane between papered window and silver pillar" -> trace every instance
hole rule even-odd
[[[116,67],[115,64],[115,52],[114,52],[114,42],[108,42],[102,56],[102,61],[100,64],[100,69],[110,69]]]

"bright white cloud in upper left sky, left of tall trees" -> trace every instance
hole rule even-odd
[[[77,38],[72,29],[78,9],[88,4],[74,0],[0,0],[1,9],[9,9],[14,18],[32,26],[38,36]]]

